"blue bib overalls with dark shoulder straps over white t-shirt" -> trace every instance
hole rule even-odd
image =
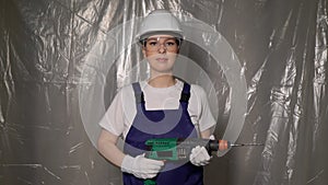
[[[180,103],[177,109],[147,111],[140,84],[132,83],[137,114],[125,140],[125,153],[136,157],[144,153],[148,139],[155,138],[197,138],[188,108],[190,85],[184,83]],[[161,97],[159,97],[161,99]],[[162,171],[154,178],[157,185],[202,185],[203,169],[190,162],[166,161]],[[143,185],[142,178],[124,173],[125,185]]]

